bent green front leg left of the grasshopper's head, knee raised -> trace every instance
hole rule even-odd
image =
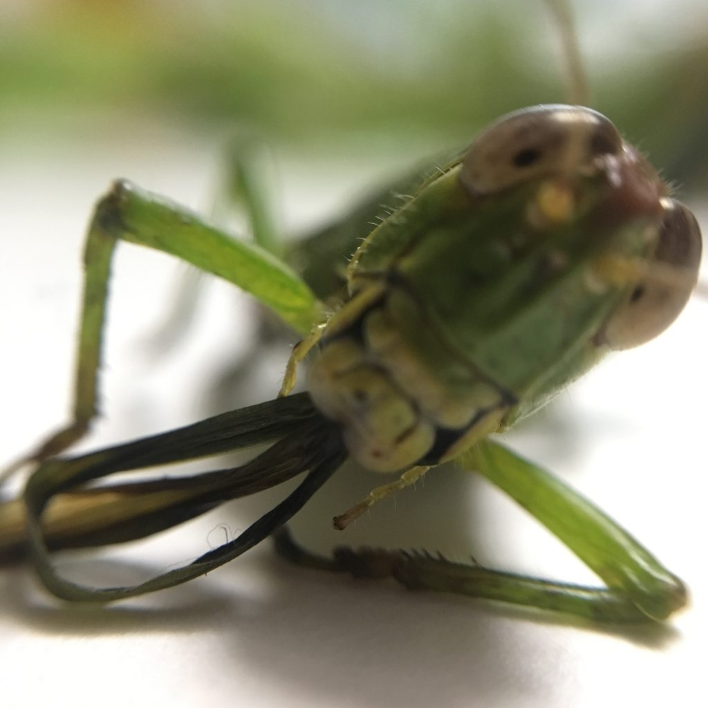
[[[74,420],[33,452],[28,461],[40,462],[57,455],[79,440],[96,416],[110,263],[119,240],[164,251],[233,282],[301,334],[306,334],[319,316],[319,302],[309,287],[269,253],[234,240],[183,207],[118,181],[98,202],[86,238]]]

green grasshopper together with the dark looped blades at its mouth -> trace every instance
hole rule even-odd
[[[0,548],[23,547],[25,519],[42,581],[69,600],[106,602],[174,586],[274,535],[282,554],[306,566],[598,621],[663,620],[682,607],[683,583],[636,540],[490,436],[546,404],[605,353],[666,329],[697,281],[695,218],[607,118],[578,105],[506,115],[434,167],[395,185],[409,198],[358,247],[371,205],[292,249],[291,263],[304,254],[321,258],[309,258],[302,275],[263,247],[268,234],[259,219],[252,219],[256,243],[246,243],[131,183],[115,183],[86,239],[74,421],[31,456],[38,469],[23,498],[0,506]],[[256,215],[256,200],[243,193]],[[381,201],[376,195],[373,203]],[[233,282],[302,342],[273,401],[60,457],[96,415],[109,270],[121,240]],[[353,257],[341,273],[333,254],[346,249]],[[309,393],[289,395],[308,353]],[[117,472],[264,444],[265,452],[233,469],[86,486]],[[285,524],[347,457],[398,479],[337,515],[337,527],[453,461],[508,493],[606,587],[399,551],[308,552]],[[144,537],[303,472],[297,489],[239,537],[137,586],[88,588],[52,564],[53,549]]]

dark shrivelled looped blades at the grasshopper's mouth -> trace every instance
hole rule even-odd
[[[261,455],[233,469],[81,487],[115,472],[274,440]],[[28,545],[45,586],[60,598],[108,602],[169,588],[221,566],[261,542],[302,508],[344,459],[346,450],[336,428],[314,409],[306,394],[232,411],[194,426],[88,455],[49,459],[30,477],[25,489]],[[308,476],[290,496],[239,537],[137,586],[77,585],[59,576],[52,564],[50,547],[91,546],[143,537],[182,523],[229,498],[257,493],[306,471]],[[93,507],[91,493],[96,493]],[[62,497],[64,502],[71,501],[72,495],[88,505],[80,507],[81,516],[52,518],[51,504],[62,502]],[[2,511],[0,507],[0,522]]]

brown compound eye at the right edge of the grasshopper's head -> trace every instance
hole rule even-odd
[[[602,341],[612,349],[630,349],[661,334],[683,310],[698,280],[701,232],[692,212],[663,199],[658,244],[629,299],[605,324]]]

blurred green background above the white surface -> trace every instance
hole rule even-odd
[[[708,8],[578,1],[591,103],[682,185],[705,185]],[[566,97],[541,0],[0,2],[0,139],[180,125],[307,152],[426,152]]]

